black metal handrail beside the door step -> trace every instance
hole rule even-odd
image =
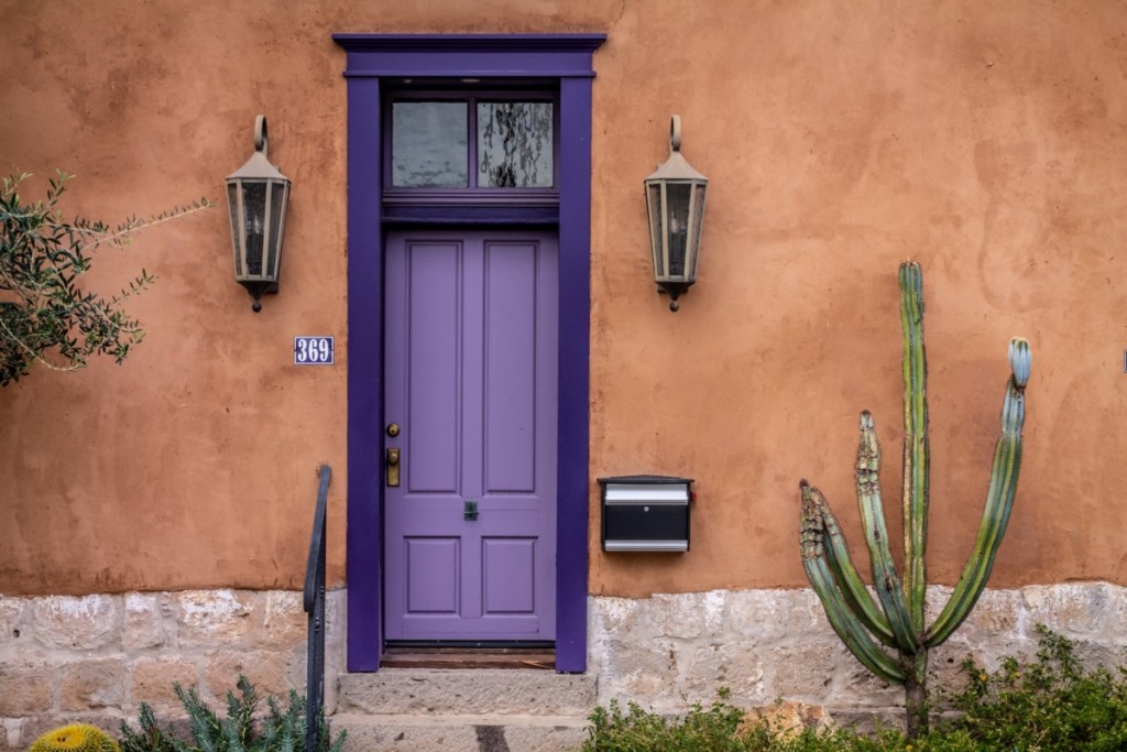
[[[317,752],[321,732],[318,720],[325,698],[325,507],[332,468],[322,465],[317,475],[321,483],[317,489],[317,508],[313,511],[313,534],[309,542],[303,593],[305,613],[309,614],[309,640],[305,644],[305,752]]]

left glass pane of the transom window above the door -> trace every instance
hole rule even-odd
[[[409,188],[469,186],[464,101],[391,105],[391,185]]]

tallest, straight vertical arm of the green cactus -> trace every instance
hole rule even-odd
[[[923,339],[923,273],[900,265],[900,327],[904,333],[904,594],[912,628],[924,632],[928,590],[928,360]]]

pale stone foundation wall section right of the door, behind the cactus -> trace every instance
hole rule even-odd
[[[949,587],[928,593],[933,618]],[[810,590],[716,590],[648,599],[592,598],[588,671],[601,704],[633,700],[662,713],[716,699],[770,705],[779,698],[829,709],[840,722],[899,723],[903,690],[875,679],[829,628]],[[987,591],[966,622],[932,651],[931,687],[961,682],[968,655],[993,669],[1004,655],[1032,657],[1036,626],[1077,643],[1090,663],[1125,663],[1127,589],[1102,583]]]

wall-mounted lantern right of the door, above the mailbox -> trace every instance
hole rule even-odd
[[[677,298],[696,282],[704,192],[708,178],[681,156],[681,115],[669,124],[669,158],[646,178],[649,210],[649,244],[654,251],[654,278],[669,293],[669,310]]]

